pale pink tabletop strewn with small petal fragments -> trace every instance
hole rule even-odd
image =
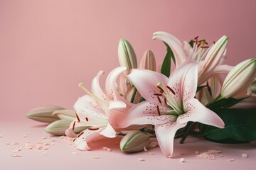
[[[22,128],[21,128],[22,127]],[[8,129],[8,131],[4,130]],[[160,148],[155,147],[149,149],[155,155],[149,155],[146,152],[134,154],[124,154],[119,150],[119,145],[114,144],[119,140],[105,140],[94,142],[92,151],[80,152],[68,145],[67,142],[60,140],[60,137],[51,137],[43,132],[44,125],[36,123],[32,120],[26,123],[1,123],[0,125],[0,160],[1,169],[255,169],[256,163],[256,143],[247,145],[224,145],[199,140],[197,138],[188,137],[186,143],[178,144],[179,140],[174,144],[174,159],[168,159],[161,154]],[[23,137],[28,133],[27,137]],[[30,134],[30,135],[29,135]],[[46,150],[26,149],[24,144],[26,141],[36,144],[41,141],[42,137],[54,145]],[[22,157],[11,157],[16,148],[6,145],[6,143],[18,142],[21,147]],[[112,152],[107,152],[101,147],[109,147]],[[209,149],[222,151],[215,154],[215,159],[203,159],[196,157],[196,151],[207,152]],[[78,154],[72,154],[78,152]],[[242,158],[241,154],[247,154],[248,158]],[[223,157],[220,157],[223,155]],[[93,159],[92,157],[99,157]],[[138,158],[144,159],[144,162],[137,161]],[[180,163],[179,160],[184,158],[185,162]],[[228,162],[228,159],[235,159]]]

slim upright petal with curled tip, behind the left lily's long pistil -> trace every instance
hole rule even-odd
[[[104,72],[100,71],[97,73],[97,76],[92,79],[92,94],[95,94],[95,96],[101,98],[102,100],[106,100],[107,96],[102,91],[102,88],[100,86],[100,76],[102,76],[102,74],[104,74]]]

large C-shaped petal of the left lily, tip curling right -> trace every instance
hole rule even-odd
[[[126,67],[117,67],[113,69],[112,72],[108,74],[106,79],[106,91],[111,98],[114,98],[114,101],[122,101],[127,105],[127,107],[131,108],[133,104],[129,103],[129,101],[125,100],[124,97],[120,96],[117,91],[117,78],[119,77],[120,74],[126,71],[127,71]]]

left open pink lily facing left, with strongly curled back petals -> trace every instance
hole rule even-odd
[[[92,80],[92,91],[86,89],[82,83],[79,84],[88,95],[78,98],[74,106],[76,118],[65,131],[65,135],[76,137],[74,142],[78,149],[90,149],[87,144],[92,140],[97,140],[102,136],[116,137],[121,130],[117,128],[116,123],[132,107],[132,103],[119,96],[116,80],[119,74],[126,70],[126,67],[117,67],[108,74],[106,91],[100,87],[99,79],[103,74],[102,71]],[[87,127],[87,129],[76,135],[73,131],[79,127]]]

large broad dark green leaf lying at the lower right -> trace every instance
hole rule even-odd
[[[214,109],[225,123],[225,128],[200,125],[201,136],[221,143],[245,143],[256,140],[256,108]]]

